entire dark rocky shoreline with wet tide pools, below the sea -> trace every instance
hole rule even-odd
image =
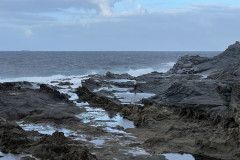
[[[72,85],[52,83],[70,89]],[[213,58],[184,56],[166,73],[90,75],[74,90],[78,96],[74,103],[57,87],[37,85],[0,84],[1,152],[40,159],[165,160],[163,153],[187,153],[195,160],[240,159],[239,42]],[[132,120],[136,127],[110,127],[117,130],[114,133],[106,130],[109,126],[96,125],[111,119],[84,122],[88,105],[76,104],[86,102],[109,117]],[[74,132],[67,137],[61,131],[46,135],[23,130],[24,123],[51,124]],[[79,139],[79,135],[88,138]],[[94,137],[105,137],[101,147],[89,143],[99,141]],[[144,150],[133,154],[132,148]]]

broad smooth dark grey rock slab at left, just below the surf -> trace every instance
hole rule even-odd
[[[5,83],[1,86],[0,117],[31,122],[78,121],[74,113],[80,113],[81,109],[46,85],[41,85],[40,90],[22,88],[18,83]]]

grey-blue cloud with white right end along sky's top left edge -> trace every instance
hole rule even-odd
[[[1,0],[0,10],[11,12],[54,12],[59,9],[76,8],[108,12],[121,0]]]

